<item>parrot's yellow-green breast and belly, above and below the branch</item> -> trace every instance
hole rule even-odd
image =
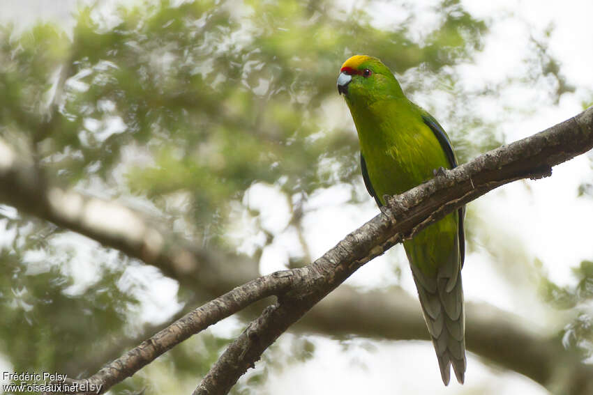
[[[384,195],[400,194],[430,180],[435,169],[451,168],[440,141],[423,121],[422,110],[407,98],[378,100],[363,109],[348,104],[368,179],[380,203],[385,203]],[[434,277],[442,256],[456,248],[457,232],[458,216],[452,213],[405,241],[404,247],[414,264]]]

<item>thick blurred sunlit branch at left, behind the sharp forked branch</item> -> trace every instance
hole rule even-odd
[[[190,245],[121,203],[45,187],[33,160],[17,155],[2,139],[0,202],[154,265],[182,286],[201,289],[208,298],[246,283],[257,273],[257,262]]]

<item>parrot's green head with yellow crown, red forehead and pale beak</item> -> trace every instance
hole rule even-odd
[[[338,93],[344,94],[348,104],[403,96],[391,70],[379,59],[366,55],[355,55],[344,62],[338,76]]]

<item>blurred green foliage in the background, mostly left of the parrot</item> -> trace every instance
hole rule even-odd
[[[420,36],[414,15],[380,29],[366,12],[370,3],[142,1],[81,8],[71,32],[2,26],[0,135],[35,157],[48,183],[135,196],[166,226],[182,219],[184,237],[220,249],[237,244],[227,238],[230,202],[241,202],[254,183],[298,201],[296,219],[320,188],[360,186],[356,134],[329,105],[340,100],[336,77],[352,54],[379,56],[410,77],[407,93],[438,88],[453,98],[435,116],[451,125],[462,162],[498,146],[495,127],[472,113],[451,68],[481,49],[486,24],[459,1],[444,0],[434,10],[437,23]],[[179,195],[183,204],[172,203]],[[128,322],[137,297],[118,282],[130,260],[93,246],[87,264],[99,268],[98,278],[73,293],[76,277],[64,268],[80,259],[76,245],[56,247],[67,231],[8,208],[0,215],[3,355],[15,371],[94,373],[107,362],[93,359],[94,351],[138,334]],[[33,265],[33,252],[43,264]],[[188,341],[164,357],[188,380],[204,374],[228,341],[200,339],[199,348]],[[306,360],[314,347],[304,341],[292,351]],[[148,374],[136,376],[114,393],[139,392],[147,382]]]

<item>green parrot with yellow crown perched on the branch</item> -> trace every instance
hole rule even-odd
[[[433,178],[437,169],[457,166],[441,125],[405,97],[379,59],[356,55],[345,61],[338,92],[359,135],[366,189],[382,210],[384,195],[400,194]],[[403,242],[445,385],[451,364],[458,382],[465,375],[464,217],[465,207]]]

